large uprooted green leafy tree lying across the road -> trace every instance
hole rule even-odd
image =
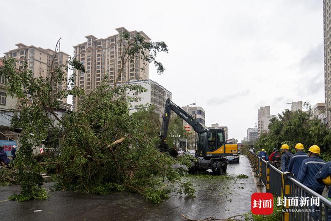
[[[157,72],[162,73],[164,68],[155,56],[157,52],[168,52],[167,45],[146,42],[142,36],[131,36],[128,32],[122,33],[120,45],[123,50],[116,81],[110,83],[104,75],[101,85],[88,95],[75,85],[75,75],[66,81],[65,69],[85,72],[74,58],[57,67],[52,62],[50,69],[41,70],[47,72],[46,77],[34,76],[27,64],[18,70],[15,59],[5,58],[0,74],[6,77],[9,95],[21,101],[12,122],[13,127],[22,128],[21,147],[14,165],[21,193],[11,199],[47,198],[40,174],[42,166],[53,164],[57,170],[57,189],[97,194],[127,190],[154,203],[167,198],[171,191],[194,196],[192,184],[181,181],[182,170],[172,167],[175,163],[190,166],[191,161],[158,152],[157,137],[146,131],[150,122],[129,114],[128,103],[136,98],[128,95],[146,89],[119,83],[125,65],[137,56],[142,63],[153,63]],[[60,118],[56,110],[69,95],[83,99],[77,111]],[[50,134],[52,139],[48,139]],[[33,148],[44,140],[53,140],[52,148],[57,148],[53,162],[48,159],[38,163],[33,157]]]

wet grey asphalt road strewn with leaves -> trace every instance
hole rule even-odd
[[[233,178],[246,174],[247,179]],[[0,187],[0,220],[184,220],[182,214],[194,219],[228,218],[250,211],[251,194],[256,192],[246,156],[240,163],[228,164],[227,180],[190,176],[197,192],[188,199],[172,194],[168,200],[154,205],[137,194],[114,193],[106,196],[66,191],[50,192],[47,200],[27,202],[2,201],[19,192],[19,186]],[[46,188],[50,184],[46,184]],[[35,210],[42,210],[34,212]]]

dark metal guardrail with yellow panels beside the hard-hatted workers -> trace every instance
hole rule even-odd
[[[311,205],[304,206],[286,206],[282,210],[283,221],[297,221],[297,220],[325,220],[331,221],[331,201],[311,190],[307,186],[295,180],[290,172],[282,172],[270,162],[267,162],[256,154],[247,151],[246,155],[249,158],[255,177],[259,178],[258,185],[264,185],[266,191],[272,193],[274,196],[288,197],[300,199],[301,197],[318,197],[319,207]]]

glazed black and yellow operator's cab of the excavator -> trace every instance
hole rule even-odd
[[[209,129],[199,134],[198,151],[199,157],[210,157],[214,154],[224,153],[225,136],[222,129]],[[213,155],[211,155],[214,153]]]

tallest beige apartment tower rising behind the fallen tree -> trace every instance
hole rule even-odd
[[[85,73],[74,71],[76,86],[84,89],[86,94],[98,87],[105,75],[108,75],[110,83],[148,79],[148,63],[144,64],[140,55],[122,64],[122,58],[126,59],[124,56],[126,43],[122,39],[122,33],[128,31],[123,27],[116,31],[116,35],[104,39],[98,39],[93,35],[85,36],[86,42],[74,46],[74,57],[85,66]],[[143,32],[131,31],[129,34],[131,36],[140,34],[146,41],[150,41]],[[79,97],[73,98],[74,109],[79,99]]]

